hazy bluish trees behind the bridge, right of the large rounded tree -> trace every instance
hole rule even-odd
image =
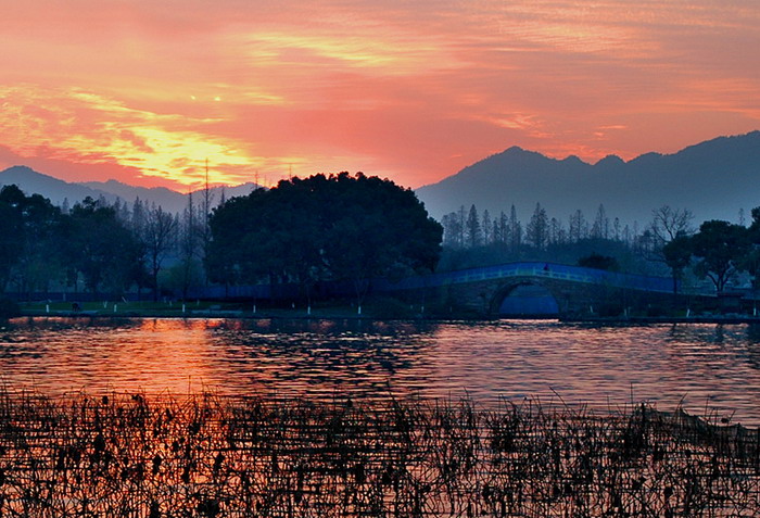
[[[563,225],[549,218],[536,203],[528,224],[508,214],[491,217],[460,207],[443,216],[444,262],[467,267],[484,263],[519,260],[556,261],[631,273],[670,275],[673,290],[687,277],[708,281],[723,292],[739,274],[746,274],[752,288],[760,271],[760,207],[751,211],[751,222],[704,222],[693,225],[686,209],[663,205],[653,211],[649,223],[639,227],[621,225],[610,218],[604,205],[588,220],[582,211],[572,213]],[[641,229],[639,229],[641,228]]]

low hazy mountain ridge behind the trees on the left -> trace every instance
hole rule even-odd
[[[144,188],[134,187],[116,180],[88,181],[83,184],[69,184],[52,176],[43,175],[29,167],[15,166],[0,172],[0,186],[17,185],[27,194],[38,193],[49,198],[53,204],[63,204],[64,199],[69,205],[84,200],[87,197],[99,199],[103,197],[110,203],[121,199],[123,202],[131,204],[135,199],[149,205],[155,203],[165,211],[179,213],[185,210],[188,203],[187,194],[166,189],[164,187]],[[255,188],[255,184],[243,184],[237,187],[224,188],[225,198],[229,199],[238,195],[245,195]],[[216,205],[221,200],[223,188],[212,188],[213,202]],[[193,193],[194,201],[201,201],[201,193]]]

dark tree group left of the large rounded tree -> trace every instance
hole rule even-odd
[[[191,197],[183,214],[169,214],[139,198],[131,206],[86,198],[59,207],[40,194],[26,195],[17,186],[4,186],[0,291],[65,288],[117,296],[137,289],[150,290],[157,299],[163,271],[165,285],[187,292],[204,281],[204,205]]]

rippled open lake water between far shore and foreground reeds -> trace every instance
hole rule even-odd
[[[0,327],[0,371],[50,395],[648,401],[760,425],[760,327],[747,325],[24,318]]]

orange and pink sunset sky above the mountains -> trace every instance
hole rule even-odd
[[[179,190],[760,128],[757,0],[0,0],[0,169]]]

